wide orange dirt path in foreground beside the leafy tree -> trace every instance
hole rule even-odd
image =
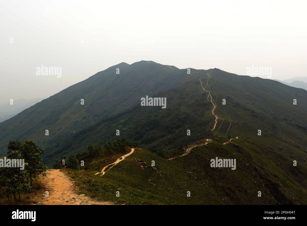
[[[43,183],[49,197],[42,199],[43,205],[114,205],[111,201],[98,201],[74,191],[74,182],[60,170],[48,170]]]

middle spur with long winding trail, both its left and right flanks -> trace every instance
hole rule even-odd
[[[201,78],[205,86],[209,76]],[[306,161],[305,90],[217,69],[210,73],[206,90],[199,80],[192,80],[161,92],[157,96],[166,97],[166,109],[144,107],[138,102],[130,110],[76,133],[70,138],[73,143],[70,148],[77,153],[91,143],[103,144],[117,138],[115,131],[119,129],[120,136],[140,141],[143,148],[159,152],[165,158],[179,153],[189,142],[214,136],[240,136],[287,157]],[[209,92],[218,117],[214,130]],[[226,105],[222,105],[223,99]],[[293,105],[293,99],[297,99],[297,105]],[[191,131],[190,136],[187,130]],[[161,153],[159,149],[170,151]]]

